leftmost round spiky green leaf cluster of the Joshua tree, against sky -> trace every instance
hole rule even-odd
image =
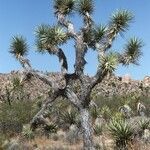
[[[18,55],[20,56],[27,55],[28,44],[26,42],[26,39],[23,36],[14,36],[10,44],[9,52],[15,57],[17,57]]]

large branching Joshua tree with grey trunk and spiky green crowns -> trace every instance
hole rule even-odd
[[[41,110],[31,121],[31,127],[44,122],[44,111],[52,106],[58,97],[67,98],[79,111],[83,130],[84,149],[93,150],[92,126],[89,114],[90,94],[92,89],[101,83],[107,74],[115,71],[119,64],[138,64],[141,56],[142,41],[138,38],[130,39],[123,47],[123,52],[111,51],[111,46],[119,34],[123,34],[129,27],[133,16],[127,10],[116,11],[107,25],[96,25],[92,19],[94,11],[93,0],[54,0],[56,25],[40,25],[36,29],[36,46],[39,52],[47,52],[58,57],[61,65],[60,76],[65,84],[60,87],[59,83],[51,76],[35,71],[28,59],[25,58],[28,46],[22,36],[12,39],[10,52],[22,64],[24,75],[39,78],[52,87],[51,95],[45,100]],[[78,13],[83,19],[83,27],[76,29],[71,22],[70,14]],[[74,40],[75,64],[74,73],[68,72],[67,58],[60,48],[69,39]],[[89,49],[97,51],[99,66],[96,74],[87,80],[84,75],[86,65],[85,55]],[[73,82],[80,81],[80,90],[73,90]]]

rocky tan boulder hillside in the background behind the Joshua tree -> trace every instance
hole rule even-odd
[[[53,76],[54,79],[60,86],[63,85],[63,79],[60,78],[59,73],[47,73],[49,76]],[[15,78],[19,77],[18,71],[12,71],[8,74],[0,74],[0,95],[5,93],[5,87],[9,82]],[[92,80],[93,77],[85,76],[85,78]],[[45,85],[39,79],[33,78],[24,84],[24,89],[35,99],[41,95],[46,96],[50,92],[49,86]],[[93,90],[94,95],[112,96],[112,95],[124,95],[129,93],[147,94],[150,95],[150,76],[146,76],[143,80],[133,80],[129,75],[123,77],[111,76],[98,84]]]

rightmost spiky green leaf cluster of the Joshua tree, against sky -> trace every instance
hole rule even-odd
[[[139,58],[142,55],[141,49],[143,42],[138,38],[131,38],[125,45],[125,53],[122,63],[129,65],[130,63],[138,64]]]

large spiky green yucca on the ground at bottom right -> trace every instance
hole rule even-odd
[[[117,149],[127,149],[133,138],[133,130],[129,124],[124,120],[112,120],[108,129],[115,140]]]

